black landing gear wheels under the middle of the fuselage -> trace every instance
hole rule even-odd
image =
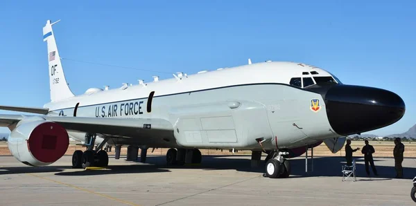
[[[202,155],[199,149],[171,148],[166,152],[167,165],[199,164],[201,160]]]

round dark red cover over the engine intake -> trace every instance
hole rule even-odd
[[[64,127],[44,122],[33,129],[28,138],[28,150],[40,162],[55,162],[67,152],[69,136]]]

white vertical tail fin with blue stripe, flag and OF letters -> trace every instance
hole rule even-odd
[[[67,84],[67,79],[65,79],[64,69],[62,68],[58,47],[56,46],[55,36],[53,35],[52,25],[56,23],[58,23],[58,21],[51,24],[51,20],[48,20],[46,21],[46,26],[43,28],[43,38],[48,44],[49,87],[51,88],[51,102],[74,96]]]

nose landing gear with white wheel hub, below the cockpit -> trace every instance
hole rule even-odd
[[[291,175],[291,164],[283,158],[288,152],[270,151],[266,158],[266,173],[263,177],[288,178]]]

